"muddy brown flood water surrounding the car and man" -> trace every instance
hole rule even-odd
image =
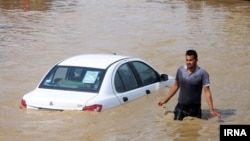
[[[173,121],[169,88],[101,113],[21,110],[58,61],[85,53],[140,57],[175,76],[196,49],[214,107]],[[218,141],[220,124],[250,124],[250,1],[0,0],[0,140]]]

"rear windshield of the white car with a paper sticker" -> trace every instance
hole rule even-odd
[[[41,82],[39,88],[97,93],[104,73],[103,69],[55,66]]]

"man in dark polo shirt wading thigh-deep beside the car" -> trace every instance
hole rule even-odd
[[[186,116],[201,118],[202,89],[209,106],[210,113],[220,118],[214,111],[213,99],[209,88],[209,75],[197,65],[198,55],[195,50],[186,51],[186,65],[177,70],[176,81],[167,96],[158,102],[159,106],[167,103],[180,88],[178,103],[174,110],[174,120],[183,120]]]

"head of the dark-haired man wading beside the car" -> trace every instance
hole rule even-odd
[[[186,65],[188,69],[194,69],[198,62],[198,55],[195,50],[186,51]]]

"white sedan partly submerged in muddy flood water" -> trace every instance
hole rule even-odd
[[[20,108],[100,112],[174,81],[139,58],[83,54],[56,64],[33,91],[23,96]]]

